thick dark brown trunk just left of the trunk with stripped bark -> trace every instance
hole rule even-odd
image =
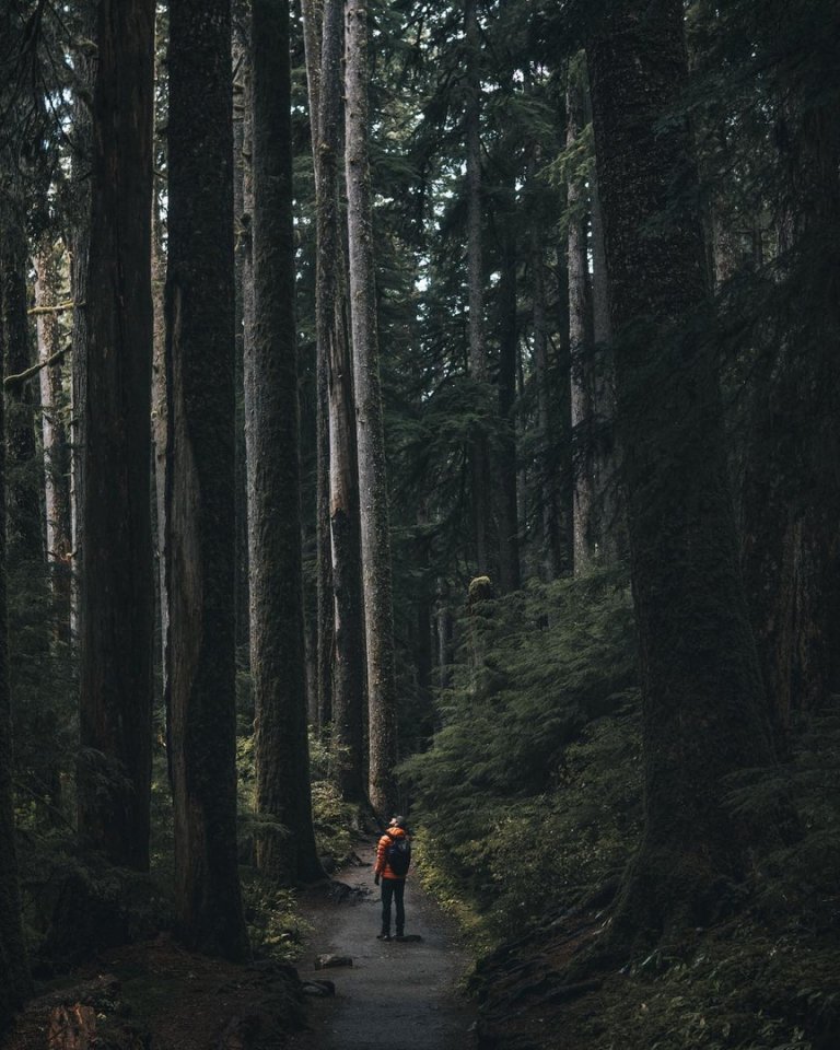
[[[104,0],[96,40],[85,397],[78,406],[88,552],[79,595],[78,818],[83,841],[115,864],[147,870],[153,0]]]

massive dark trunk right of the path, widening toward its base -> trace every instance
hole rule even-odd
[[[641,643],[645,826],[616,946],[705,924],[756,829],[726,778],[772,761],[726,491],[702,225],[682,90],[682,4],[616,0],[587,47],[610,277],[633,598]],[[692,640],[691,645],[686,639]]]

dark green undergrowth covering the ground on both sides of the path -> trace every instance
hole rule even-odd
[[[830,708],[797,724],[785,761],[728,785],[728,804],[756,821],[789,800],[789,840],[757,851],[746,882],[720,879],[692,930],[616,962],[598,944],[642,827],[626,575],[596,570],[474,602],[458,634],[440,728],[399,777],[417,830],[416,877],[458,921],[475,958],[464,991],[479,1003],[479,1046],[833,1048],[840,724]],[[276,1046],[305,1025],[295,895],[252,866],[258,819],[244,673],[240,685],[240,858],[253,960],[201,959],[167,932],[172,819],[159,748],[151,876],[92,866],[69,825],[45,831],[34,807],[19,810],[39,991],[10,1050],[42,1046],[50,1026],[56,1039],[88,1031],[98,1040],[91,1046],[133,1050]],[[51,759],[67,768],[70,752],[56,745]],[[360,825],[330,778],[328,749],[312,747],[315,829],[329,868],[352,855]]]

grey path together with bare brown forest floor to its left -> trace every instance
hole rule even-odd
[[[374,845],[357,849],[301,896],[308,932],[294,968],[194,955],[161,934],[40,983],[0,1050],[469,1050],[476,1013],[458,992],[455,928],[409,877],[411,940],[377,941]],[[351,965],[320,968],[322,956]]]

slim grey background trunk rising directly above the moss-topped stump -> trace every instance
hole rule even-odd
[[[469,306],[469,372],[478,386],[478,396],[486,397],[489,380],[487,340],[485,336],[485,266],[481,236],[481,75],[479,70],[480,35],[476,0],[464,0],[466,37],[466,104],[464,135],[467,152],[467,294]],[[487,430],[477,424],[470,447],[472,483],[472,535],[476,574],[491,573],[491,469]]]

